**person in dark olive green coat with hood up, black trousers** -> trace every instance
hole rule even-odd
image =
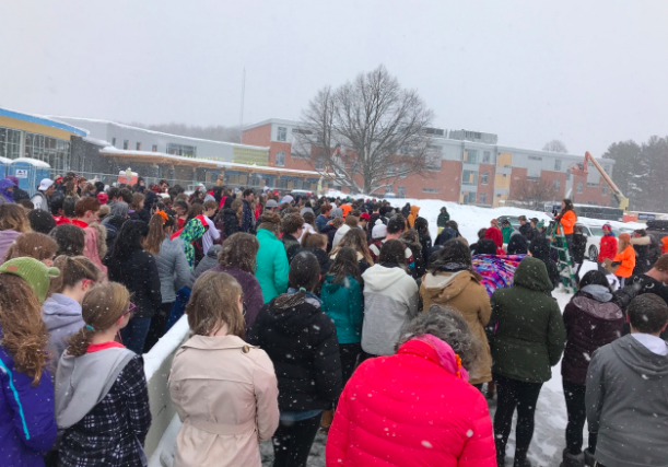
[[[500,466],[505,465],[505,447],[515,409],[514,465],[527,465],[536,402],[564,349],[566,330],[551,291],[552,282],[544,264],[528,257],[517,267],[513,287],[499,289],[492,295],[492,316],[487,330],[492,349],[492,374],[499,392],[494,439]]]

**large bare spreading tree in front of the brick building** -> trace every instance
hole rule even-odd
[[[384,66],[354,81],[318,91],[293,131],[293,154],[354,192],[441,167],[426,133],[433,113]]]

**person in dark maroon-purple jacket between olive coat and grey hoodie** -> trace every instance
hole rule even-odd
[[[561,363],[569,424],[563,467],[584,466],[585,456],[593,454],[596,435],[589,434],[589,447],[583,453],[583,428],[587,418],[585,407],[586,378],[594,351],[621,337],[624,315],[610,289],[606,275],[593,270],[579,281],[579,291],[566,305],[563,314],[566,327],[566,348]]]

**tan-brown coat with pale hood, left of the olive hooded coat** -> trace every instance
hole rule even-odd
[[[484,334],[484,327],[490,322],[492,307],[490,297],[480,284],[478,277],[471,271],[431,272],[422,278],[420,285],[422,306],[427,311],[432,305],[452,306],[461,313],[469,325],[469,329],[480,343],[484,352],[478,360],[478,365],[469,369],[469,382],[482,384],[492,381],[492,355]]]

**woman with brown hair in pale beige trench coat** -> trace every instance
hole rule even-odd
[[[174,467],[260,467],[260,443],[279,425],[278,382],[263,350],[242,338],[242,288],[204,272],[186,307],[192,336],[177,351],[169,395],[183,427]]]

